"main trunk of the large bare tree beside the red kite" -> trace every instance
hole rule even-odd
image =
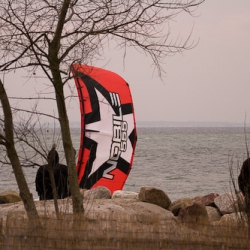
[[[48,61],[52,73],[53,85],[55,88],[56,103],[59,115],[59,122],[61,126],[63,148],[69,170],[69,186],[73,202],[73,212],[82,213],[84,212],[83,198],[80,194],[78,185],[76,162],[75,162],[75,149],[73,147],[71,133],[70,133],[69,119],[63,93],[63,82],[60,74],[60,60],[58,59],[59,49],[61,45],[60,41],[61,41],[62,31],[65,24],[67,12],[70,7],[70,2],[71,2],[70,0],[63,1],[55,35],[53,37],[53,40],[49,43]]]

